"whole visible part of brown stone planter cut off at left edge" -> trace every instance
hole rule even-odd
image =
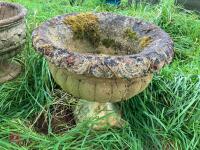
[[[18,4],[0,2],[0,83],[15,78],[21,71],[8,59],[19,53],[25,43],[26,9]]]

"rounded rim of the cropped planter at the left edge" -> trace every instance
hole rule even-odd
[[[14,22],[17,22],[17,21],[23,19],[27,14],[27,9],[20,4],[0,2],[0,6],[14,7],[17,10],[19,10],[19,13],[17,15],[10,17],[10,18],[0,20],[0,27],[4,26],[4,25],[12,24]]]

